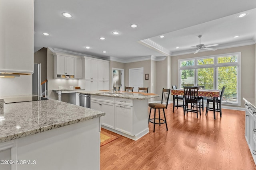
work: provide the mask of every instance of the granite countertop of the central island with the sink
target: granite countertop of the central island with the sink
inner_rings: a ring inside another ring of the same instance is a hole
[[[146,100],[150,98],[159,97],[158,94],[147,95],[147,94],[138,93],[138,92],[110,93],[108,90],[98,90],[98,91],[80,90],[77,92],[80,94],[90,94],[90,95],[96,95],[96,96],[108,96],[108,97],[114,97],[114,98],[125,98],[125,99],[135,99],[135,100]]]

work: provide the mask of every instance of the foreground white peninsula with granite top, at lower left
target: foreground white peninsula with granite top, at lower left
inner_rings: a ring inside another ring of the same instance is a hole
[[[41,100],[4,104],[0,169],[100,169],[102,111]],[[11,161],[10,161],[11,160]]]

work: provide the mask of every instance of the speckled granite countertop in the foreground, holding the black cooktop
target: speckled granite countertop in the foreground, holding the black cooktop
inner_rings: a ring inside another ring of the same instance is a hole
[[[52,99],[4,104],[4,111],[0,112],[0,143],[104,115]]]

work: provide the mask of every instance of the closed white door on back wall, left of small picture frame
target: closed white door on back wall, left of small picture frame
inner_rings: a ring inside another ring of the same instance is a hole
[[[139,87],[143,87],[143,68],[129,69],[129,86],[134,87],[134,92],[138,92]]]

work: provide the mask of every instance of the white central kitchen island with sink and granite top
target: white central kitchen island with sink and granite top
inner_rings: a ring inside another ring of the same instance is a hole
[[[138,140],[148,129],[148,99],[159,97],[157,94],[102,91],[78,91],[91,95],[91,108],[104,111],[101,127],[133,140]]]

